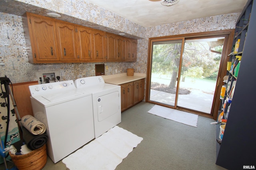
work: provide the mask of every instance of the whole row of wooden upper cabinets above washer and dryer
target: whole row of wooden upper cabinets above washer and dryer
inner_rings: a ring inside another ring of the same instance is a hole
[[[137,40],[26,12],[30,63],[136,61]]]

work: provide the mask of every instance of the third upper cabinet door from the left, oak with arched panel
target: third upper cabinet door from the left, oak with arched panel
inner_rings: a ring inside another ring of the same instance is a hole
[[[80,61],[93,61],[93,35],[90,29],[85,27],[77,28],[77,39],[78,39],[78,47],[79,47],[79,60]]]

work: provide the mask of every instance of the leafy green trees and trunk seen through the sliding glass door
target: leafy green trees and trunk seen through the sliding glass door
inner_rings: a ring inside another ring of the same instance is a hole
[[[152,73],[170,75],[170,88],[176,86],[181,49],[182,41],[166,41],[153,46]],[[182,80],[184,81],[186,76],[204,78],[216,73],[221,51],[222,45],[212,49],[205,41],[185,43],[182,55]]]

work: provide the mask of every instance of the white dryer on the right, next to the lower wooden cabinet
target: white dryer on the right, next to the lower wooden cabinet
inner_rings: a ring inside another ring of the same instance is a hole
[[[94,135],[99,137],[121,123],[121,87],[105,83],[102,76],[79,78],[76,88],[92,93]]]

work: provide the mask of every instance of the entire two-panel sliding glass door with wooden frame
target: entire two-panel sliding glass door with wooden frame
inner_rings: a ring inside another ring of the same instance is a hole
[[[148,102],[210,115],[224,41],[223,35],[153,40]]]

